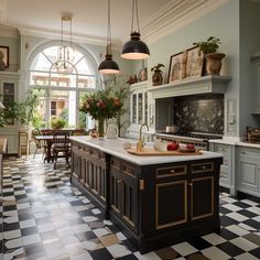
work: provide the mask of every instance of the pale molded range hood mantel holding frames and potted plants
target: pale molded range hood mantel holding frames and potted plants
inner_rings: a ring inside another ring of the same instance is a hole
[[[148,88],[148,91],[150,91],[155,99],[210,93],[224,94],[226,85],[230,79],[231,78],[228,76],[209,75],[152,86]]]

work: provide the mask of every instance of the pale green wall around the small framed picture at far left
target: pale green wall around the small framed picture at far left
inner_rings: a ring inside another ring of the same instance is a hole
[[[19,69],[19,39],[0,35],[0,45],[9,47],[9,67],[4,71],[17,72]]]

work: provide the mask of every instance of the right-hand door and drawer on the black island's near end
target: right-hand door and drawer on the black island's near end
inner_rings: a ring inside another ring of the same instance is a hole
[[[215,191],[214,171],[214,161],[193,163],[191,165],[191,180],[188,181],[191,220],[216,215],[215,197],[218,196],[218,191]]]

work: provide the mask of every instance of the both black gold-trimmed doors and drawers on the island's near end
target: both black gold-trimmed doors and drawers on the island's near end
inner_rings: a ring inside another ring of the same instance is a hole
[[[214,161],[156,167],[154,230],[218,216]],[[217,180],[217,181],[216,181]]]

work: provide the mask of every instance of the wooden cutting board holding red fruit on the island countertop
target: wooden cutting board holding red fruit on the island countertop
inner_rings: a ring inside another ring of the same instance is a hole
[[[139,156],[161,156],[161,155],[201,155],[203,154],[199,150],[191,150],[191,151],[165,151],[160,152],[154,150],[153,148],[143,148],[141,152],[138,152],[136,148],[126,149],[127,152],[139,155]]]

